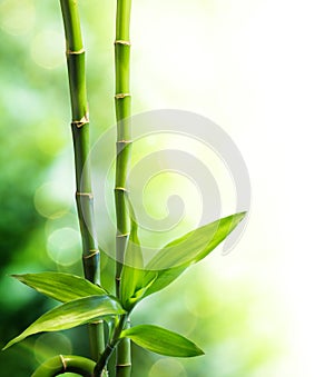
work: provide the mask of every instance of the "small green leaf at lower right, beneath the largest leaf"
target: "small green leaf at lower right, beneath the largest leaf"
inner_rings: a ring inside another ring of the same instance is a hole
[[[165,356],[194,357],[204,355],[204,351],[193,341],[158,326],[135,326],[124,330],[121,337],[130,338],[138,346]]]

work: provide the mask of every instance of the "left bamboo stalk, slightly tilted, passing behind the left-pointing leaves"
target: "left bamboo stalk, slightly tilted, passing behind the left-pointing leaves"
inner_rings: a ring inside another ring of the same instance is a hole
[[[100,284],[100,254],[94,224],[94,197],[89,165],[89,115],[86,92],[85,50],[78,1],[60,0],[68,66],[72,138],[76,163],[76,202],[82,240],[82,264],[86,279]],[[97,360],[105,349],[102,321],[89,324],[91,357]]]

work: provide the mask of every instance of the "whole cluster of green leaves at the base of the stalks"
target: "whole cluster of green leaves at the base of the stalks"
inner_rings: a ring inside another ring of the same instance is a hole
[[[168,242],[144,266],[138,225],[132,212],[119,299],[102,287],[70,274],[13,275],[19,281],[62,304],[39,317],[3,349],[33,334],[65,330],[101,319],[112,324],[128,317],[140,300],[166,288],[188,267],[213,251],[244,217],[245,212],[240,212],[197,228]],[[153,325],[120,329],[116,341],[122,338],[130,338],[138,346],[165,356],[194,357],[204,354],[184,336]]]

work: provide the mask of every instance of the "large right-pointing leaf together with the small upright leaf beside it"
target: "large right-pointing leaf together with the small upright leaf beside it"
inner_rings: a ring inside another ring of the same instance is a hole
[[[132,267],[135,256],[129,256],[121,276],[121,301],[131,309],[140,299],[166,288],[177,279],[189,266],[204,259],[219,245],[243,220],[245,212],[232,215],[195,229],[183,237],[167,244],[148,262],[145,269]],[[132,221],[134,222],[134,221]],[[128,254],[140,254],[137,237],[137,225],[132,226],[132,238]],[[130,259],[131,258],[131,259]]]

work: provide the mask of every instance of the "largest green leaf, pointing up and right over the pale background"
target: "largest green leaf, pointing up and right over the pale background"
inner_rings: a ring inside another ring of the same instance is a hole
[[[167,287],[190,265],[204,259],[213,251],[243,220],[246,212],[240,212],[216,220],[193,230],[167,244],[147,265],[143,285],[147,286],[144,297]]]

